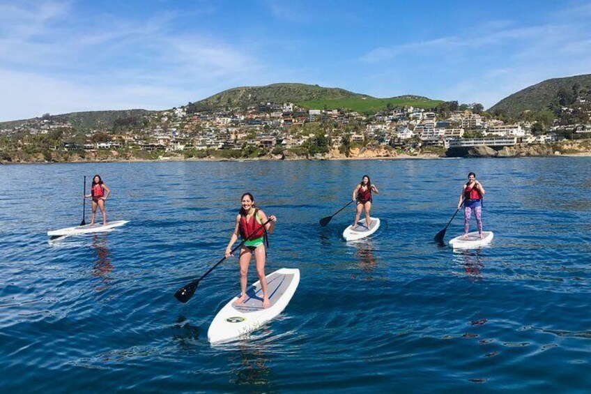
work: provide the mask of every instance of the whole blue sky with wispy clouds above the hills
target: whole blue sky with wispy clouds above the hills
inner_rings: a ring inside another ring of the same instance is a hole
[[[0,121],[302,82],[490,107],[591,73],[590,1],[0,0]]]

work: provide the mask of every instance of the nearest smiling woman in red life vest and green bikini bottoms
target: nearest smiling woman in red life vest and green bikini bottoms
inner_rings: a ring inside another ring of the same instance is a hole
[[[270,222],[266,223],[267,220],[270,220]],[[273,232],[275,229],[275,222],[277,222],[277,218],[274,215],[269,215],[267,219],[267,215],[256,208],[252,194],[243,194],[242,208],[236,216],[236,227],[234,227],[234,232],[226,247],[226,257],[230,257],[232,245],[236,243],[238,236],[247,240],[242,248],[240,248],[240,298],[236,300],[236,305],[243,303],[246,298],[248,266],[253,253],[254,262],[256,263],[256,274],[259,275],[261,289],[263,289],[263,308],[269,308],[271,305],[267,290],[267,278],[265,277],[265,238],[267,232]],[[266,225],[263,226],[263,223],[266,223]]]

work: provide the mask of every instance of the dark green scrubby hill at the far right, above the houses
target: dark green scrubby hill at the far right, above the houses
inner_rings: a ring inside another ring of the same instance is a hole
[[[501,110],[509,116],[517,116],[526,109],[535,112],[551,110],[558,103],[557,96],[560,89],[572,91],[575,84],[578,84],[583,89],[591,89],[591,74],[546,79],[544,82],[529,86],[503,98],[489,108],[489,112]]]

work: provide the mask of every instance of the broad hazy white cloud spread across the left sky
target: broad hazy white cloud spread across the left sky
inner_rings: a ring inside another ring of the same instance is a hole
[[[0,120],[88,109],[163,109],[265,66],[243,43],[175,31],[177,15],[74,20],[68,3],[0,6]],[[21,24],[26,25],[20,28]]]

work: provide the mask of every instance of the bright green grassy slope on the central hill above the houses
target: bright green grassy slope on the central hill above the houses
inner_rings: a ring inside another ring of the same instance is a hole
[[[347,108],[356,112],[377,112],[390,107],[412,107],[430,109],[437,107],[442,100],[429,100],[420,96],[400,96],[392,98],[344,98],[341,100],[307,100],[299,101],[297,104],[308,109],[337,109]]]

